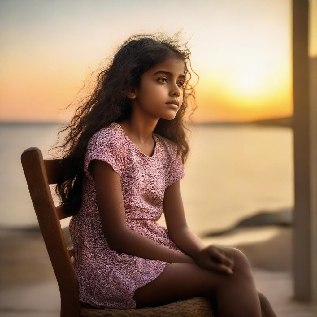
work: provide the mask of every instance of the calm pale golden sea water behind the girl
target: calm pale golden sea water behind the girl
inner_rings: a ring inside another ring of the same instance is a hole
[[[44,159],[52,159],[47,151],[57,141],[59,127],[60,124],[0,124],[0,227],[37,224],[20,157],[23,150],[36,146]],[[180,181],[190,228],[201,234],[226,229],[259,211],[292,208],[292,157],[293,132],[287,127],[193,127],[185,177]],[[51,190],[54,192],[54,186]],[[54,201],[58,205],[57,197]],[[62,227],[69,220],[64,219]],[[158,223],[166,226],[164,215]],[[269,236],[268,232],[264,230],[262,238],[265,233]]]

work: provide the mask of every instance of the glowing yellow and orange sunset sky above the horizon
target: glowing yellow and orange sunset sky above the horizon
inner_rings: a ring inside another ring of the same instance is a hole
[[[196,121],[292,115],[289,0],[1,1],[0,12],[0,120],[69,120],[61,110],[121,42],[182,28]]]

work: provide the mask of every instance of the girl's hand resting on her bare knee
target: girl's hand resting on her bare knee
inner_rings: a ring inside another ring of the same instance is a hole
[[[197,252],[194,259],[201,268],[233,274],[234,257],[230,248],[210,244]]]

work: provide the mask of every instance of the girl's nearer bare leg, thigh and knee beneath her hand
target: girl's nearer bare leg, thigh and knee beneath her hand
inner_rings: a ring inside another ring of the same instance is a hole
[[[235,256],[232,275],[196,264],[171,263],[155,280],[135,291],[133,299],[137,308],[164,305],[195,296],[214,296],[221,317],[262,317],[250,263],[240,250],[232,249]]]

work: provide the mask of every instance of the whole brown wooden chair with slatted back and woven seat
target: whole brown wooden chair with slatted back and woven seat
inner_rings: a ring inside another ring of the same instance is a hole
[[[211,301],[193,297],[159,307],[114,309],[91,308],[79,301],[78,283],[72,256],[61,229],[60,220],[69,217],[62,206],[55,207],[49,184],[59,179],[58,163],[61,159],[43,160],[37,147],[21,154],[21,163],[42,236],[52,263],[61,295],[61,317],[88,316],[214,316]]]

